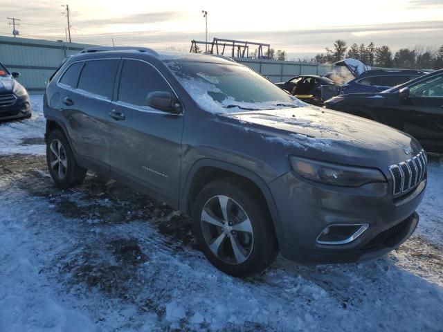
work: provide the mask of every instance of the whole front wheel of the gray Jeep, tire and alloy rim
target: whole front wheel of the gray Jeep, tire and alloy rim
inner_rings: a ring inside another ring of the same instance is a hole
[[[206,185],[192,208],[201,251],[213,266],[234,277],[260,273],[278,255],[266,202],[254,193],[251,185],[225,178]]]

